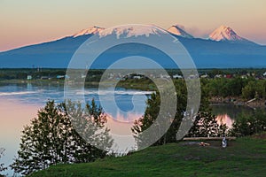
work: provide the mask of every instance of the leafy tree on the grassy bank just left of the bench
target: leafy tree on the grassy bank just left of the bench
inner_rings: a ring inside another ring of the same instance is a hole
[[[176,95],[177,106],[176,116],[171,119],[172,124],[168,128],[166,134],[164,134],[157,142],[153,145],[161,145],[168,142],[176,142],[176,133],[180,127],[181,121],[184,119],[187,103],[187,91],[184,81],[176,81]],[[196,90],[196,89],[195,89]],[[215,116],[212,114],[209,108],[208,93],[207,93],[207,80],[201,81],[201,100],[200,100],[200,111],[198,112],[195,121],[192,124],[192,128],[186,136],[222,136],[227,132],[225,125],[218,125]],[[171,104],[171,103],[169,103]],[[137,144],[141,144],[144,140],[141,133],[144,132],[148,127],[154,124],[160,111],[160,94],[153,94],[147,100],[147,107],[145,115],[134,122],[134,126],[131,128]],[[158,128],[160,126],[158,125]]]

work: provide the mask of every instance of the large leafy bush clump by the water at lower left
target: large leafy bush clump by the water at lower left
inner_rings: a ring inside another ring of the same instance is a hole
[[[74,115],[75,112],[79,116],[76,121],[82,124],[83,131],[90,128],[89,125],[100,125],[103,129],[101,133],[90,131],[88,135],[97,134],[107,140],[106,146],[111,146],[109,130],[103,127],[106,115],[101,108],[98,108],[94,100],[91,105],[86,105],[88,109],[82,109],[82,104],[71,101],[68,101],[67,105],[69,110],[66,112],[66,104],[48,101],[45,107],[38,111],[37,118],[24,127],[18,157],[11,165],[16,173],[27,175],[50,165],[90,162],[106,155],[105,150],[94,147],[76,132],[69,115]]]

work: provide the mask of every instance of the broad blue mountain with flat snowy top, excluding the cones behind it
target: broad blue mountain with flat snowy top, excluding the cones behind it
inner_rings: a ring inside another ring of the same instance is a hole
[[[163,35],[153,31],[153,27],[155,26],[152,26],[150,28],[151,31],[148,33],[142,30],[134,31],[134,29],[128,28],[126,31],[123,31],[123,33],[125,33],[122,35],[129,35],[129,37],[152,37],[149,34]],[[120,32],[119,30],[113,31],[111,34],[121,35]],[[81,35],[81,33],[83,33],[83,35]],[[83,30],[81,33],[75,36],[69,35],[56,41],[43,42],[0,52],[0,68],[32,67],[32,65],[40,67],[67,67],[75,50],[92,35],[98,35],[100,30]],[[169,32],[165,30],[163,33]],[[106,34],[110,35],[110,32]],[[184,37],[172,33],[171,35],[176,37],[179,42],[182,42],[185,49],[188,50],[192,56],[197,67],[266,67],[266,46],[250,42],[231,42],[228,40],[214,41],[210,39]],[[105,36],[103,35],[102,37]],[[116,49],[114,53],[118,55],[120,51],[132,53],[132,51],[136,49],[139,50],[139,47],[137,48],[135,45],[131,45],[130,48],[130,50],[127,48]],[[151,56],[146,57],[155,58],[157,61],[163,60],[161,55],[153,53],[154,50],[145,49],[148,51],[140,51],[151,53]],[[141,55],[140,52],[138,54]],[[112,53],[112,55],[114,54]],[[105,57],[105,59],[108,59],[108,56]],[[162,64],[166,68],[173,67],[172,63],[168,61],[162,62]],[[99,68],[101,66],[98,65],[97,67]]]

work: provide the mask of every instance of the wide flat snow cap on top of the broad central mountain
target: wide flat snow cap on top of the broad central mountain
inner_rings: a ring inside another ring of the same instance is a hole
[[[105,30],[102,30],[98,33],[100,37],[105,37],[106,35],[116,35],[117,38],[120,38],[120,36],[124,37],[132,37],[132,36],[141,36],[145,35],[146,37],[149,37],[149,35],[160,35],[160,34],[166,34],[164,30],[159,30],[158,27],[155,26],[149,26],[149,25],[126,25],[121,27],[112,27]]]

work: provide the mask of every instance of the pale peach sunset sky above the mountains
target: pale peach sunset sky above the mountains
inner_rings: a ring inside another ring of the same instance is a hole
[[[265,0],[0,0],[0,51],[125,24],[179,24],[196,37],[226,25],[266,45],[265,7]]]

